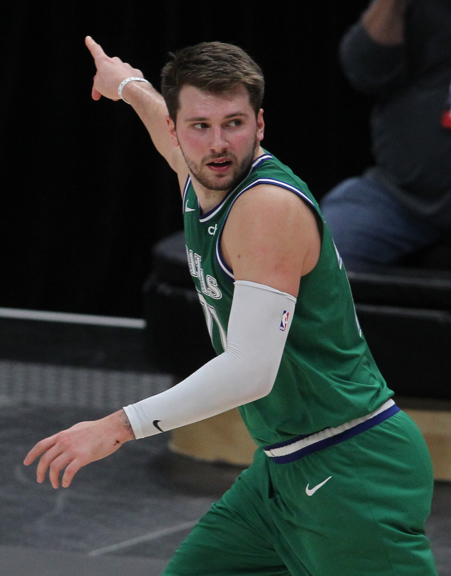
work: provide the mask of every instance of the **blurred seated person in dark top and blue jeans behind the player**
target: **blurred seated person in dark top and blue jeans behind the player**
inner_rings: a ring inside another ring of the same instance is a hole
[[[348,269],[397,263],[451,231],[451,2],[374,0],[341,41],[355,89],[377,98],[375,165],[321,208]]]

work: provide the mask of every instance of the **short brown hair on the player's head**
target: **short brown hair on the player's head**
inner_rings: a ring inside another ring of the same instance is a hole
[[[161,93],[174,123],[180,107],[179,94],[189,85],[205,92],[230,92],[245,86],[249,103],[257,116],[261,108],[265,80],[260,66],[234,44],[201,42],[172,54],[161,70]]]

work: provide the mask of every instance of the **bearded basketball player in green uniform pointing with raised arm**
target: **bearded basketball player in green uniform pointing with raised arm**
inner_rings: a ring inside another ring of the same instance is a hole
[[[436,575],[433,473],[356,319],[307,186],[269,152],[260,68],[240,48],[172,56],[163,97],[90,37],[92,97],[131,104],[178,175],[191,275],[217,357],[180,384],[36,444],[37,480],[69,486],[133,438],[239,407],[259,446],[166,575]],[[287,116],[287,121],[288,121]],[[175,327],[176,329],[176,327]]]

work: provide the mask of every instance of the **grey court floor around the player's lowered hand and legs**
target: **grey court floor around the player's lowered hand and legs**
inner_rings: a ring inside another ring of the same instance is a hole
[[[142,337],[0,319],[0,574],[157,576],[215,499],[164,482],[166,434],[127,443],[67,489],[22,465],[37,440],[171,384]],[[435,485],[427,533],[439,576],[451,576],[451,483]]]

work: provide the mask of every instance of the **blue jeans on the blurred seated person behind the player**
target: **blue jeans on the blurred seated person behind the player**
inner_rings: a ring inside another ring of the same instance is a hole
[[[321,210],[348,270],[396,263],[441,238],[371,176],[344,180],[322,198]]]

